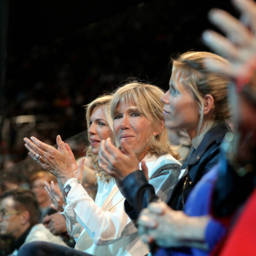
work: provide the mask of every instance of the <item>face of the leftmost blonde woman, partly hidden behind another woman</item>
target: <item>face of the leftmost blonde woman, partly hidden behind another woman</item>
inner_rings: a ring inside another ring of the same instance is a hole
[[[104,105],[99,105],[94,108],[90,116],[90,145],[92,154],[98,154],[100,143],[103,139],[108,139],[111,134],[111,129],[106,120]]]

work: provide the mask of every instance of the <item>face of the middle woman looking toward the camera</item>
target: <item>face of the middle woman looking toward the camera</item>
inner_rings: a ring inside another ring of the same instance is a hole
[[[153,122],[129,101],[117,106],[113,129],[119,143],[125,140],[139,161],[147,154],[148,140],[152,135],[157,135]]]

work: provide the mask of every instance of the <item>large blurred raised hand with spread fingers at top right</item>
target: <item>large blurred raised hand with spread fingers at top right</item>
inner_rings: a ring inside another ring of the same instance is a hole
[[[205,63],[213,72],[233,79],[246,79],[252,73],[251,67],[256,67],[256,3],[252,0],[233,0],[233,4],[241,11],[241,20],[220,9],[209,12],[211,23],[222,30],[226,37],[212,30],[203,33],[204,43],[230,60],[230,64],[211,60]]]

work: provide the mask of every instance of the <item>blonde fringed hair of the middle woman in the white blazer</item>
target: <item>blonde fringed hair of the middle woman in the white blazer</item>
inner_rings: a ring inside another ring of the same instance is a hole
[[[139,81],[132,81],[115,90],[113,99],[110,103],[110,114],[112,119],[118,105],[126,102],[138,107],[153,125],[159,123],[159,120],[164,120],[163,107],[164,103],[161,101],[164,92],[157,86],[142,83]],[[118,142],[116,141],[117,145]],[[164,127],[162,132],[157,136],[151,136],[148,140],[147,146],[149,147],[148,153],[155,155],[172,154],[174,158],[180,159],[178,152],[174,151],[174,147],[169,142],[167,128]]]

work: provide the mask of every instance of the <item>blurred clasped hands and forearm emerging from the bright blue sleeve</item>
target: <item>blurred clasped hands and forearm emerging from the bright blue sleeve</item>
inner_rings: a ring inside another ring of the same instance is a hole
[[[150,203],[141,211],[138,230],[146,243],[156,242],[162,247],[189,246],[204,248],[204,232],[209,217],[190,217],[183,211],[174,211],[166,203]]]

